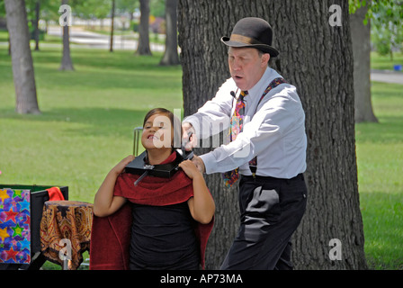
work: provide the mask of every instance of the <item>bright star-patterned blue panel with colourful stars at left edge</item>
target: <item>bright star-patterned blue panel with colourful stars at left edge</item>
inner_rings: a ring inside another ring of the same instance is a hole
[[[30,262],[30,190],[0,189],[0,264]]]

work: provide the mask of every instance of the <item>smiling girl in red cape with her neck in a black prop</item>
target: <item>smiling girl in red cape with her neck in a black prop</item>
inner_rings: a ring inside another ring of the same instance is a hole
[[[179,120],[174,121],[174,117],[172,112],[163,108],[153,109],[146,115],[141,143],[146,148],[149,165],[175,161],[174,136],[177,132],[179,137],[182,136],[182,127]],[[174,123],[178,123],[177,127]],[[131,204],[129,265],[122,268],[191,270],[198,269],[200,264],[203,266],[204,248],[215,211],[203,175],[192,161],[185,160],[170,179],[146,176],[134,185],[139,175],[124,173],[124,167],[133,159],[134,156],[125,157],[114,166],[95,194],[90,269],[108,268],[96,262],[107,262],[109,258],[100,257],[101,252],[94,250],[103,249],[103,254],[108,252],[112,248],[111,239],[125,233],[122,232],[121,222],[126,221],[127,216],[116,214],[128,202]],[[100,218],[106,216],[114,216],[114,221],[118,223],[113,224],[113,218],[109,220],[111,229],[108,232],[113,230],[114,236],[107,242],[105,229],[100,229],[98,225]],[[107,247],[101,248],[101,242]],[[121,245],[124,241],[118,239],[117,242]],[[122,249],[125,254],[125,248]],[[110,266],[113,267],[116,268]]]

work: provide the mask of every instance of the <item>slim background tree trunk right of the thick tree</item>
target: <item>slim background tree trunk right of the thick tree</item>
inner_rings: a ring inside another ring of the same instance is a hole
[[[377,122],[371,102],[371,20],[364,25],[368,4],[351,15],[354,53],[355,122]]]

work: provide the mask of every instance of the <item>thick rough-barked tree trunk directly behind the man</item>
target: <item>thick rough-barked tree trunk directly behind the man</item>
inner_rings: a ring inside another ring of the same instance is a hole
[[[342,26],[329,24],[332,4],[341,8]],[[348,1],[179,0],[178,15],[185,115],[196,112],[229,77],[227,48],[219,38],[229,36],[235,23],[246,16],[272,24],[273,47],[281,56],[273,58],[271,66],[297,87],[306,112],[309,202],[292,241],[294,267],[366,268]],[[208,175],[207,184],[217,213],[206,261],[208,268],[216,269],[237,232],[237,189],[224,188],[219,175]],[[332,239],[340,240],[341,260],[332,260]]]

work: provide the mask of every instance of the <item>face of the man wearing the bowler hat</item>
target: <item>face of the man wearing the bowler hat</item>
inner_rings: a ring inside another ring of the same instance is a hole
[[[249,90],[263,76],[270,59],[270,54],[259,55],[254,48],[228,49],[229,72],[237,87],[241,90]]]

